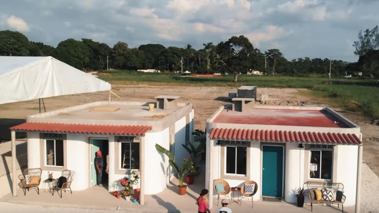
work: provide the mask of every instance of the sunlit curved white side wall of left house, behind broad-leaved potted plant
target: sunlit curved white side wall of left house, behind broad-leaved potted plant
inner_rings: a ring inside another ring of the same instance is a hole
[[[185,124],[186,118],[184,118]],[[145,195],[162,192],[172,178],[170,177],[169,160],[164,154],[156,150],[155,143],[170,149],[169,128],[160,132],[145,134]]]

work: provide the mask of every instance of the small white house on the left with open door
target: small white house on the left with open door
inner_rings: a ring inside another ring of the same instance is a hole
[[[168,160],[155,143],[174,152],[181,164],[188,154],[181,144],[191,140],[193,109],[179,96],[160,95],[156,102],[95,102],[28,116],[12,131],[27,132],[28,167],[42,168],[42,180],[64,169],[75,171],[72,190],[96,185],[95,153],[104,159],[103,183],[135,170],[143,195],[162,192],[170,179]],[[153,108],[153,106],[155,106]],[[46,177],[46,178],[45,178]],[[41,181],[41,188],[44,187]]]

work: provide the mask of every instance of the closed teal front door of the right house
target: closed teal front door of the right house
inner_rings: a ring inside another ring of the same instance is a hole
[[[262,145],[262,196],[283,195],[283,149]]]

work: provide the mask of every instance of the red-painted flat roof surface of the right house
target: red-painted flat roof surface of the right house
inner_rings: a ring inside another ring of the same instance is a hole
[[[246,112],[223,109],[212,123],[350,128],[326,109],[254,108]]]

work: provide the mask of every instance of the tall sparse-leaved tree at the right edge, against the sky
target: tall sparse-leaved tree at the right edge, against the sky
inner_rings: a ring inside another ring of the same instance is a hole
[[[362,56],[371,50],[379,48],[379,28],[378,25],[373,29],[366,29],[362,35],[362,30],[358,33],[358,41],[354,41],[354,54]]]

